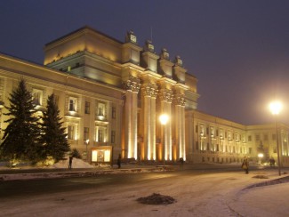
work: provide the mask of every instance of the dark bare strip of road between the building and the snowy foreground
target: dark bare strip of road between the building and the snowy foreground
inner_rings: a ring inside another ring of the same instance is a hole
[[[54,173],[66,173],[68,170],[54,170]],[[87,170],[86,170],[87,171]],[[92,170],[88,170],[92,172]],[[29,195],[45,195],[56,192],[69,192],[75,190],[109,188],[111,185],[132,185],[140,181],[165,179],[168,175],[177,179],[179,176],[197,175],[202,173],[221,173],[224,171],[239,171],[236,167],[219,168],[203,166],[192,169],[192,167],[177,167],[173,172],[159,173],[116,173],[116,174],[97,174],[93,177],[72,177],[62,179],[36,179],[20,181],[4,181],[0,185],[0,198],[27,197]],[[34,173],[34,170],[22,171],[22,173]],[[39,172],[39,171],[37,171]],[[52,173],[52,171],[46,171]],[[83,173],[84,170],[74,170],[73,173]],[[15,171],[14,171],[15,173]],[[20,173],[20,171],[18,171]],[[87,183],[90,183],[89,185]]]

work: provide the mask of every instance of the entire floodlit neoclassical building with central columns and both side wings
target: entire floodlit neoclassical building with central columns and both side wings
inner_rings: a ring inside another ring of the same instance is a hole
[[[263,151],[276,158],[276,140],[269,139],[274,133],[288,163],[286,125],[276,134],[275,125],[240,125],[198,111],[197,77],[183,67],[181,57],[172,61],[166,49],[157,53],[150,41],[140,46],[132,31],[120,42],[79,28],[45,44],[44,65],[0,54],[2,105],[9,104],[21,77],[39,112],[50,94],[57,96],[71,148],[91,163],[108,162],[118,154],[142,161],[182,157],[229,163],[245,156],[258,160]],[[159,121],[162,114],[169,117],[165,125]],[[5,118],[1,116],[2,129]],[[266,141],[261,139],[265,135]]]

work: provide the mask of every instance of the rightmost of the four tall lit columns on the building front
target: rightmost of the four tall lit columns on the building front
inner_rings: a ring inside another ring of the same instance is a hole
[[[179,148],[178,156],[186,160],[185,149],[185,96],[182,93],[174,95],[175,108],[175,140]]]

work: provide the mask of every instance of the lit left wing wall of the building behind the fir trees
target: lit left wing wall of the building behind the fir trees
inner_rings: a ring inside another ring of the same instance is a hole
[[[40,102],[36,109],[44,109],[46,100],[52,93],[58,99],[60,116],[63,118],[64,126],[71,133],[68,142],[72,149],[78,149],[86,158],[86,143],[88,139],[88,151],[94,146],[110,145],[118,152],[121,149],[121,126],[123,113],[122,89],[105,84],[95,83],[72,74],[56,71],[52,68],[39,66],[25,60],[19,60],[4,54],[0,55],[0,88],[1,99],[4,106],[9,107],[9,96],[17,88],[21,78],[24,78],[28,90],[40,92]],[[70,108],[70,100],[74,100],[74,108]],[[89,114],[85,114],[85,102],[89,102]],[[103,110],[99,114],[99,107]],[[114,111],[113,111],[114,110]],[[2,114],[7,112],[4,108]],[[112,113],[115,113],[113,116]],[[1,128],[5,129],[4,123],[8,117],[1,116]],[[89,128],[88,138],[84,138],[84,127]],[[103,130],[102,140],[97,140],[98,130]],[[114,132],[114,141],[111,134]],[[1,133],[3,136],[3,131]],[[88,155],[90,160],[91,155]]]

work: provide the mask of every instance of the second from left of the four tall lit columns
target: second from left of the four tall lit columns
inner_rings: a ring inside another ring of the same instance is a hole
[[[144,156],[148,160],[155,160],[157,84],[143,84],[141,92],[143,97]]]

